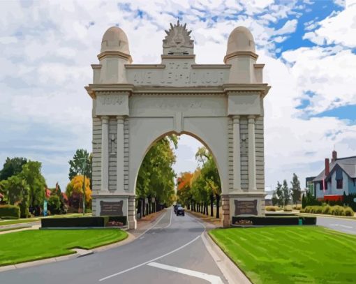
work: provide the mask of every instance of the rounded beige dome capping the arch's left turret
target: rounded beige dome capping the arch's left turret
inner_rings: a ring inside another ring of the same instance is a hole
[[[101,40],[101,52],[107,51],[130,54],[126,33],[119,27],[111,27],[105,31]]]

